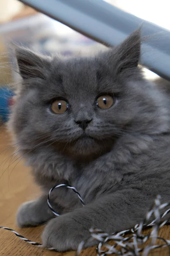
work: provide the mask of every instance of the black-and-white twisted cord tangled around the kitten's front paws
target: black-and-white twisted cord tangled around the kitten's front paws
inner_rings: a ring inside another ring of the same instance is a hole
[[[50,189],[48,193],[48,207],[51,209],[54,215],[59,216],[59,214],[55,212],[54,209],[51,207],[50,194],[54,189],[57,189],[61,186],[72,189],[79,197],[82,205],[85,205],[79,192],[77,192],[77,190],[73,186],[67,184],[60,184],[54,186],[52,189]],[[142,256],[147,256],[151,249],[170,246],[170,240],[158,236],[159,229],[165,224],[169,223],[170,218],[167,218],[164,221],[162,219],[170,212],[170,208],[167,209],[163,214],[161,214],[160,212],[162,209],[168,206],[170,206],[170,203],[161,204],[161,197],[158,195],[154,201],[153,206],[150,208],[149,212],[147,212],[144,220],[140,224],[136,224],[133,229],[115,232],[110,235],[106,232],[103,232],[102,230],[91,228],[89,230],[89,232],[91,233],[91,238],[87,241],[82,241],[79,244],[77,249],[77,255],[79,255],[84,245],[92,239],[95,239],[99,242],[98,246],[96,247],[97,256],[107,256],[111,254],[122,256],[139,256],[141,255],[141,253]],[[151,218],[153,218],[153,221],[149,223]],[[152,228],[152,231],[147,235],[144,235],[142,233],[142,230],[146,228]],[[17,237],[28,242],[29,244],[43,247],[42,244],[28,240],[24,236],[21,236],[19,233],[8,227],[0,227],[0,229],[5,229],[13,232]],[[130,236],[125,237],[125,235],[127,234],[130,234]],[[157,240],[163,241],[164,244],[156,245]],[[110,245],[108,243],[109,241],[114,241],[114,245]],[[149,243],[141,248],[141,245],[144,245],[147,241],[149,241]],[[103,248],[105,248],[105,250]],[[55,250],[55,248],[53,247],[48,249]]]

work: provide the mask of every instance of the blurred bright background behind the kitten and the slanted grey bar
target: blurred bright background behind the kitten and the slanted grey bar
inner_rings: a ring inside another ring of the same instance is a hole
[[[106,0],[108,3],[144,20],[170,29],[170,1]],[[16,62],[10,55],[11,43],[43,54],[95,54],[105,49],[69,27],[25,6],[18,0],[0,0],[0,122],[6,122],[12,105],[8,84],[17,80]],[[145,69],[146,76],[156,75]]]

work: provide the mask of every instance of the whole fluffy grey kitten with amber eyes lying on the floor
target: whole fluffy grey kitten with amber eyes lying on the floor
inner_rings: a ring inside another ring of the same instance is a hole
[[[89,228],[139,223],[160,194],[170,201],[168,97],[138,67],[140,32],[95,57],[44,57],[17,49],[23,78],[9,127],[42,196],[23,204],[20,227],[48,221],[42,243],[75,250]],[[85,201],[67,188],[69,183]],[[55,218],[54,218],[55,217]],[[95,244],[88,243],[87,246]]]

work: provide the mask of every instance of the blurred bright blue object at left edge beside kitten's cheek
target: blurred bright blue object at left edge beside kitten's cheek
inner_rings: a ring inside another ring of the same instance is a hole
[[[9,87],[0,87],[0,119],[2,119],[3,122],[8,121],[12,96],[14,96],[14,93]]]

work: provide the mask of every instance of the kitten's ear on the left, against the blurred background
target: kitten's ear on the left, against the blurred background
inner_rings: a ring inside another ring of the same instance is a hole
[[[45,78],[45,67],[47,68],[50,63],[48,58],[23,47],[18,47],[15,50],[15,55],[23,79]]]

